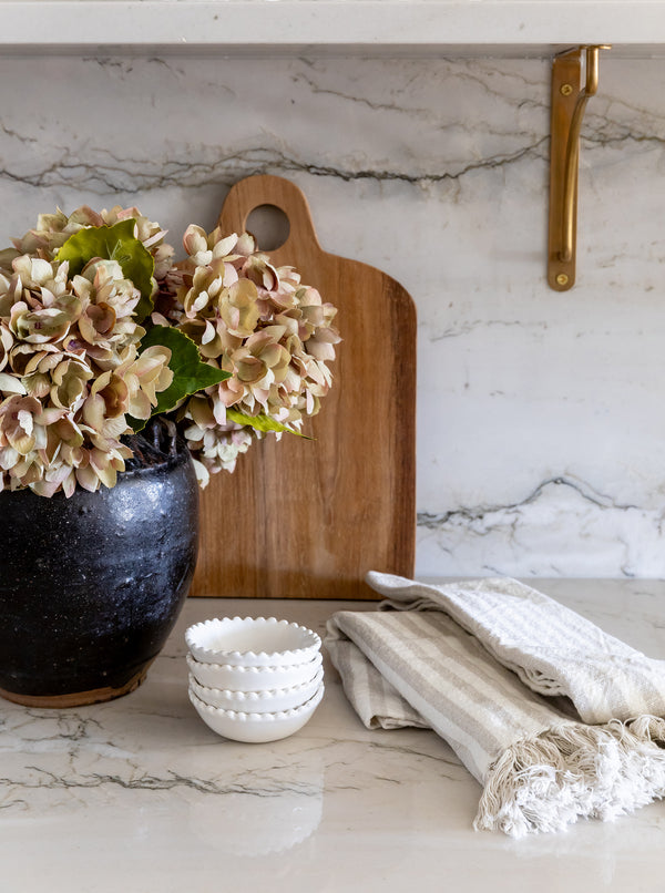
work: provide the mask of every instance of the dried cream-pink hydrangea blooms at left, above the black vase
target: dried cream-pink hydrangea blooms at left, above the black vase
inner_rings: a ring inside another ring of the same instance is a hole
[[[70,277],[57,259],[80,229],[129,218],[166,271],[164,230],[135,208],[41,215],[0,253],[0,489],[70,496],[76,485],[113,486],[131,455],[121,440],[129,418],[147,419],[173,379],[168,348],[139,353],[141,292],[121,265],[92,258]]]

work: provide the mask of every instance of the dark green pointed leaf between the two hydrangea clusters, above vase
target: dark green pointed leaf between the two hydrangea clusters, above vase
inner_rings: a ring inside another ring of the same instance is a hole
[[[231,372],[224,372],[204,362],[194,341],[180,329],[153,326],[141,341],[141,352],[155,345],[171,350],[168,368],[173,372],[173,381],[165,391],[157,393],[157,406],[153,409],[152,415],[171,412],[185,397],[231,378]],[[127,418],[127,423],[136,432],[145,425],[145,420]]]

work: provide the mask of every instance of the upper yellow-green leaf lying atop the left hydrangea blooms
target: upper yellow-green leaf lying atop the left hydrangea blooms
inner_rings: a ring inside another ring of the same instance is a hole
[[[153,256],[134,236],[134,219],[120,220],[113,226],[88,226],[70,236],[58,252],[55,259],[69,260],[70,276],[81,273],[94,257],[116,260],[125,279],[131,279],[141,291],[141,300],[134,311],[141,322],[153,309]]]

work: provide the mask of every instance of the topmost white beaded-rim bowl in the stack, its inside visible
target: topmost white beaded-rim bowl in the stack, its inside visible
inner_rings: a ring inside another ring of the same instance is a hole
[[[203,664],[235,667],[306,664],[321,647],[311,629],[276,617],[216,617],[191,626],[185,640]]]

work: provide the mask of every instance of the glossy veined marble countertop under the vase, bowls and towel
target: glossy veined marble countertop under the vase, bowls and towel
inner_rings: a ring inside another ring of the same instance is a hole
[[[529,581],[653,657],[665,582]],[[7,893],[646,891],[665,869],[665,803],[511,840],[474,832],[480,788],[426,730],[368,731],[327,661],[297,735],[224,740],[187,699],[184,629],[275,615],[324,632],[372,603],[190,599],[144,685],[105,705],[0,702],[0,889]],[[654,886],[655,884],[655,886]]]

